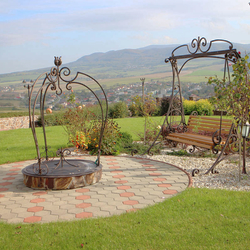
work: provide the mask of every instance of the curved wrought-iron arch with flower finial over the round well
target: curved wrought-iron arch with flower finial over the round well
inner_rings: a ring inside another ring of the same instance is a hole
[[[101,129],[100,129],[100,136],[99,136],[99,143],[98,143],[98,155],[95,161],[96,166],[100,165],[101,144],[102,144],[102,138],[103,138],[107,116],[108,116],[107,96],[106,96],[104,89],[102,88],[102,86],[96,79],[82,72],[77,72],[75,76],[71,77],[71,71],[68,67],[60,68],[62,64],[61,57],[55,57],[54,64],[55,66],[51,68],[49,73],[45,72],[41,74],[34,82],[32,82],[33,83],[32,85],[27,86],[28,91],[29,91],[30,127],[31,127],[31,131],[34,137],[37,160],[38,160],[37,164],[34,165],[34,173],[38,175],[39,174],[46,175],[48,174],[48,171],[49,171],[48,166],[46,164],[46,161],[49,160],[49,153],[48,153],[48,144],[47,144],[47,137],[46,137],[45,122],[44,122],[45,100],[46,100],[46,95],[49,89],[55,92],[57,96],[60,96],[63,93],[63,90],[62,90],[63,83],[65,84],[65,88],[68,91],[73,89],[73,85],[80,85],[82,87],[87,88],[95,96],[98,102],[98,105],[100,107],[100,110],[101,110]],[[101,93],[104,96],[104,103],[101,102],[101,99],[98,97],[98,95],[94,92],[93,89],[91,89],[86,84],[80,82],[80,79],[78,79],[80,76],[87,77],[89,80],[94,82],[94,84],[96,84],[100,88]],[[71,79],[66,79],[67,77],[71,77]],[[40,81],[42,81],[42,84],[39,87],[38,91],[35,92],[35,87],[36,85],[38,85]],[[41,123],[42,123],[42,129],[43,129],[43,137],[44,137],[45,160],[43,160],[43,157],[41,156],[41,150],[38,144],[38,138],[37,138],[37,133],[36,133],[36,119],[35,119],[36,104],[39,104],[40,106]],[[69,155],[69,154],[70,154],[69,149],[59,149],[57,151],[57,155],[60,156],[58,166],[59,165],[63,166],[63,161],[66,161],[69,165],[72,165],[64,157],[65,155]],[[78,167],[74,165],[72,166]]]

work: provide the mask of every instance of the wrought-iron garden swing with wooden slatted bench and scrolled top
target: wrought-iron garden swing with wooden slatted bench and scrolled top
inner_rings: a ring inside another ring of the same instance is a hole
[[[215,49],[216,44],[219,45],[217,50]],[[218,50],[218,48],[223,47],[224,49]],[[188,62],[204,58],[222,59],[224,61],[224,79],[230,82],[229,63],[236,63],[240,54],[233,48],[233,44],[227,40],[215,39],[208,43],[204,37],[195,38],[191,45],[184,44],[172,51],[171,56],[165,59],[165,62],[170,62],[172,67],[171,100],[162,129],[145,153],[150,153],[161,134],[165,134],[167,141],[212,149],[215,153],[220,150],[216,161],[206,172],[208,174],[209,172],[213,173],[217,164],[227,157],[226,152],[228,149],[230,151],[231,146],[236,143],[237,135],[234,123],[227,119],[222,121],[221,118],[191,116],[188,123],[185,122],[180,74]],[[178,61],[180,67],[178,67]],[[179,121],[176,121],[176,117],[180,118]]]

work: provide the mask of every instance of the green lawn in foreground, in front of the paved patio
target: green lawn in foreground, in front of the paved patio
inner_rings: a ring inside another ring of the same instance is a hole
[[[190,188],[108,218],[0,223],[1,249],[249,249],[248,192]]]

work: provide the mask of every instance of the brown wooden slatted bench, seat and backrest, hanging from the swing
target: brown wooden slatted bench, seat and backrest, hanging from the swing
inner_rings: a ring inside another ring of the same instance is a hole
[[[196,147],[215,149],[215,146],[225,144],[232,126],[232,120],[207,116],[190,116],[186,132],[169,133],[167,140],[188,144]],[[219,133],[221,131],[221,133]],[[219,141],[217,136],[221,135]]]

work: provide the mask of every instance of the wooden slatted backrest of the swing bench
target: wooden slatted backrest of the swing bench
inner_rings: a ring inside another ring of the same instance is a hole
[[[208,117],[208,116],[189,116],[188,119],[188,130],[199,133],[201,131],[205,132],[215,132],[216,130],[220,129],[221,123],[221,133],[222,134],[229,134],[230,128],[232,126],[231,119],[222,119],[216,117]]]

